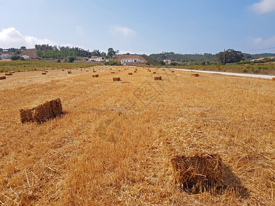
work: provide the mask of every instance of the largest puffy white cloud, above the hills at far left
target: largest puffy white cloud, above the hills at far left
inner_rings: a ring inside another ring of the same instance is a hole
[[[47,38],[39,39],[34,36],[25,36],[21,34],[14,27],[3,29],[0,32],[0,47],[1,48],[19,48],[25,46],[27,48],[34,48],[35,45],[49,44],[54,45],[52,41]]]

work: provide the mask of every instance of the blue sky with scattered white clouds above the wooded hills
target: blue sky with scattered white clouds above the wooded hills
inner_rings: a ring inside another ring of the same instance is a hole
[[[275,53],[275,0],[0,0],[0,14],[1,48]]]

